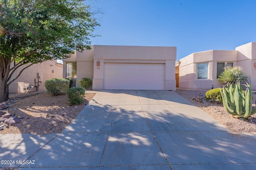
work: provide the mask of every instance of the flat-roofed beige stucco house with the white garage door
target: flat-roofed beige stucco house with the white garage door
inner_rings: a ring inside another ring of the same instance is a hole
[[[63,77],[92,79],[92,89],[176,90],[176,47],[92,45],[63,59]]]

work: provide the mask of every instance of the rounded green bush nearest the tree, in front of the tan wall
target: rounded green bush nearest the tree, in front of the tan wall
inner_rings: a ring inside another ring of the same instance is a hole
[[[45,81],[44,86],[48,93],[52,96],[57,96],[58,94],[65,94],[70,81],[65,78],[52,78]]]

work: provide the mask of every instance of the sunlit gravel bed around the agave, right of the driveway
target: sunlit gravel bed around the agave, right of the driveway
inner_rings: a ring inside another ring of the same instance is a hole
[[[235,117],[232,117],[227,113],[223,107],[223,104],[218,104],[217,102],[197,102],[193,100],[194,97],[200,97],[206,93],[206,91],[197,91],[197,90],[176,90],[176,93],[199,107],[214,119],[224,125],[226,128],[230,129],[232,132],[239,133],[251,133],[256,135],[256,114],[248,120],[241,120]],[[256,94],[253,94],[253,107],[255,107]]]

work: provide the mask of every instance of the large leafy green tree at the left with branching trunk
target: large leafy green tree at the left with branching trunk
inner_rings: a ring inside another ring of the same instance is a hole
[[[32,64],[90,49],[100,25],[85,0],[0,0],[0,102],[9,85]],[[11,80],[22,65],[18,76]]]

